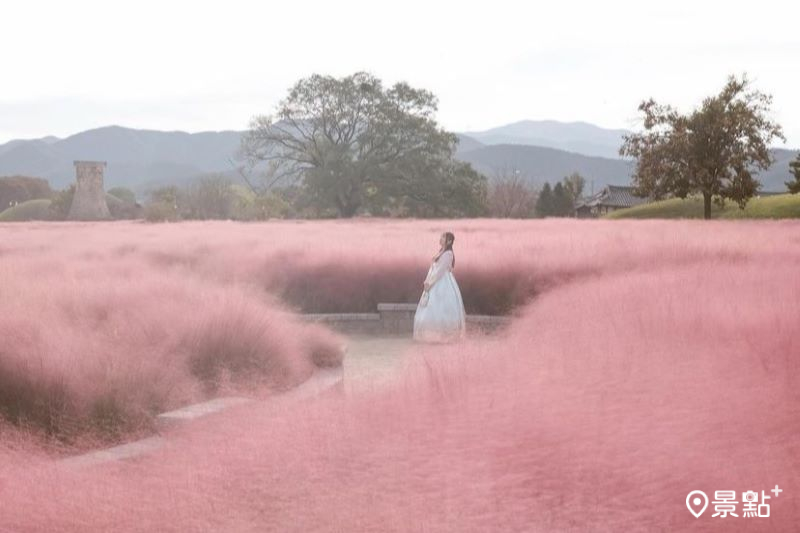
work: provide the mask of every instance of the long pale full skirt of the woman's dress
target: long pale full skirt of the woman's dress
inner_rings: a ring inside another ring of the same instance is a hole
[[[422,305],[423,298],[420,298],[414,315],[414,340],[452,342],[464,337],[464,302],[452,272],[442,276],[430,288],[427,305]]]

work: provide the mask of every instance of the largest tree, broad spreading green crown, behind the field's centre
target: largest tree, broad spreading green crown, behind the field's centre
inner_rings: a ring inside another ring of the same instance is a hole
[[[320,210],[471,214],[486,179],[453,159],[457,137],[434,120],[436,97],[406,83],[385,88],[359,72],[298,81],[273,116],[257,116],[242,142],[268,182],[302,184]],[[266,164],[266,165],[265,165]]]

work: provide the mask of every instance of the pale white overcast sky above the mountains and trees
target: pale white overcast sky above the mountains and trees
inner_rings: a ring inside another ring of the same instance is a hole
[[[0,143],[111,124],[240,130],[301,77],[367,70],[433,91],[455,131],[632,128],[644,98],[688,110],[747,72],[800,147],[798,3],[648,4],[9,1]]]

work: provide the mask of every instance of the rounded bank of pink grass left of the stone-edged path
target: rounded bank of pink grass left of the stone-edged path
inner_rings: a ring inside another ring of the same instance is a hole
[[[0,266],[6,420],[60,440],[116,439],[210,394],[287,388],[316,360],[336,363],[341,341],[274,299],[117,251],[61,250],[56,240],[9,252]]]

